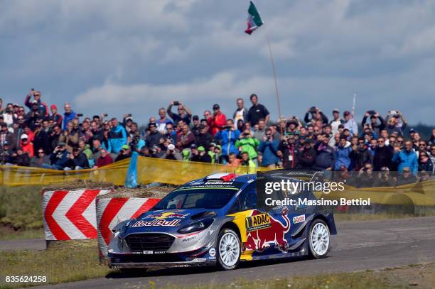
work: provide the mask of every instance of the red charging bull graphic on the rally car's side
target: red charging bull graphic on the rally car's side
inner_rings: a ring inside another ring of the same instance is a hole
[[[252,216],[259,214],[258,211],[252,212]],[[283,209],[281,216],[286,220],[283,225],[278,220],[269,216],[270,226],[264,229],[249,231],[247,234],[247,241],[244,245],[245,250],[263,251],[269,248],[271,244],[277,246],[281,251],[286,251],[287,240],[285,234],[290,230],[290,220],[287,217],[288,209]],[[245,251],[244,250],[244,251]]]

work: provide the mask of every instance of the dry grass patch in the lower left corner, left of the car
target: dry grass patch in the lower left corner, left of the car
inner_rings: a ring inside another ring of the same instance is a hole
[[[0,288],[19,288],[42,283],[5,283],[4,276],[46,276],[47,283],[67,283],[104,277],[110,272],[100,265],[97,249],[49,249],[44,251],[0,251]]]

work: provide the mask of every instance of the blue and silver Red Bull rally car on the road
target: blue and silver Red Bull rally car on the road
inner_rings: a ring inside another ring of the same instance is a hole
[[[221,173],[176,188],[149,212],[114,228],[109,267],[218,265],[231,270],[240,261],[325,257],[331,234],[337,234],[331,209],[264,207],[257,200],[256,178]],[[282,173],[269,178],[294,180]],[[311,191],[281,194],[316,200]]]

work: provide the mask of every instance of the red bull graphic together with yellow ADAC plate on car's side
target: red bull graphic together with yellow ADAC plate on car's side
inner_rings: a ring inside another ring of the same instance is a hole
[[[267,215],[264,216],[264,215]],[[287,240],[285,234],[290,230],[290,220],[287,217],[287,210],[284,209],[281,213],[286,224],[281,224],[278,220],[269,216],[269,214],[259,214],[258,211],[252,212],[250,217],[247,217],[247,241],[245,250],[263,251],[274,244],[281,251],[286,251]],[[254,220],[257,224],[254,224]],[[252,226],[249,226],[252,224]]]

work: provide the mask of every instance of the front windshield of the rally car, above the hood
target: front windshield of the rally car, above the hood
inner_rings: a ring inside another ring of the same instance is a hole
[[[178,188],[164,197],[154,209],[219,209],[239,190],[237,187]]]

